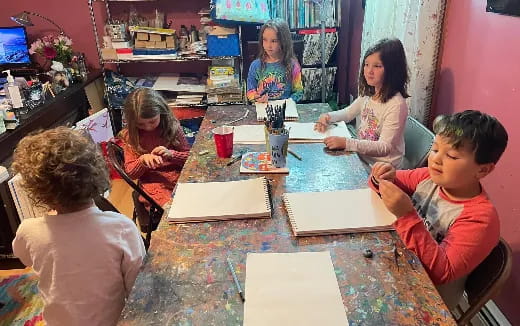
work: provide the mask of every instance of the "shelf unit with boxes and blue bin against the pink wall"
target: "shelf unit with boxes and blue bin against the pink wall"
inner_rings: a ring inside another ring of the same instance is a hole
[[[108,69],[115,69],[116,74],[124,77],[125,75],[149,76],[166,71],[169,73],[193,71],[200,76],[206,74],[210,76],[211,67],[230,68],[232,72],[227,76],[218,76],[218,83],[215,84],[230,88],[225,84],[224,77],[236,79],[236,81],[232,80],[236,89],[233,90],[231,97],[219,96],[218,98],[233,100],[222,101],[222,104],[227,105],[234,102],[239,93],[240,101],[236,103],[245,103],[241,77],[243,70],[241,27],[240,25],[236,27],[208,25],[208,21],[211,20],[210,0],[192,0],[182,4],[173,4],[167,0],[88,0],[88,6],[99,64],[105,80],[107,107],[113,118],[112,121],[115,122],[116,131],[122,127],[118,122],[123,119],[120,117],[121,110],[114,109],[121,107],[120,99],[126,96],[119,95],[118,101],[111,99],[111,79],[106,77]],[[172,25],[174,22],[178,24],[175,28]],[[146,68],[136,65],[142,63],[147,64]],[[187,70],[183,63],[193,64],[193,70],[191,70],[192,66]],[[163,64],[168,64],[167,68],[161,68]],[[210,78],[211,76],[207,79],[208,89],[211,88]],[[201,80],[205,81],[203,78]],[[144,87],[152,87],[161,92],[172,91],[173,99],[178,96],[187,99],[188,102],[189,94],[204,93],[200,103],[182,105],[189,107],[207,106],[207,97],[210,96],[208,92],[193,93],[191,88],[173,91],[157,89],[153,85]]]

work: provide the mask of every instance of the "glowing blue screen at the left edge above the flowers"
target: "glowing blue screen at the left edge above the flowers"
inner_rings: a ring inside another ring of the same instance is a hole
[[[20,66],[31,63],[25,27],[0,27],[0,65]]]

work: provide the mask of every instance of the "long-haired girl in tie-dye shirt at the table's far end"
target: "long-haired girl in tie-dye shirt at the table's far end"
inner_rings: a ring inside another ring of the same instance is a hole
[[[258,44],[258,59],[251,63],[247,75],[247,98],[251,102],[299,101],[303,96],[302,71],[287,23],[281,19],[265,23]]]

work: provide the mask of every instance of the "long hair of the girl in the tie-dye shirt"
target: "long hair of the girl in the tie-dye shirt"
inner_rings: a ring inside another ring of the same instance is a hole
[[[281,62],[285,67],[286,78],[290,79],[293,68],[293,60],[296,60],[296,57],[294,56],[291,30],[289,29],[289,25],[287,25],[284,20],[275,18],[266,22],[260,29],[260,33],[258,34],[258,58],[262,63],[262,69],[265,68],[265,57],[267,55],[265,53],[263,44],[264,31],[266,28],[271,28],[276,32],[278,42],[280,43],[280,50],[282,51]]]

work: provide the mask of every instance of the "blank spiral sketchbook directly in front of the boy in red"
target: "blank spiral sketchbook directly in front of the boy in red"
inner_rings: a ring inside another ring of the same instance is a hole
[[[369,188],[285,193],[283,201],[295,236],[387,231],[396,220]]]

